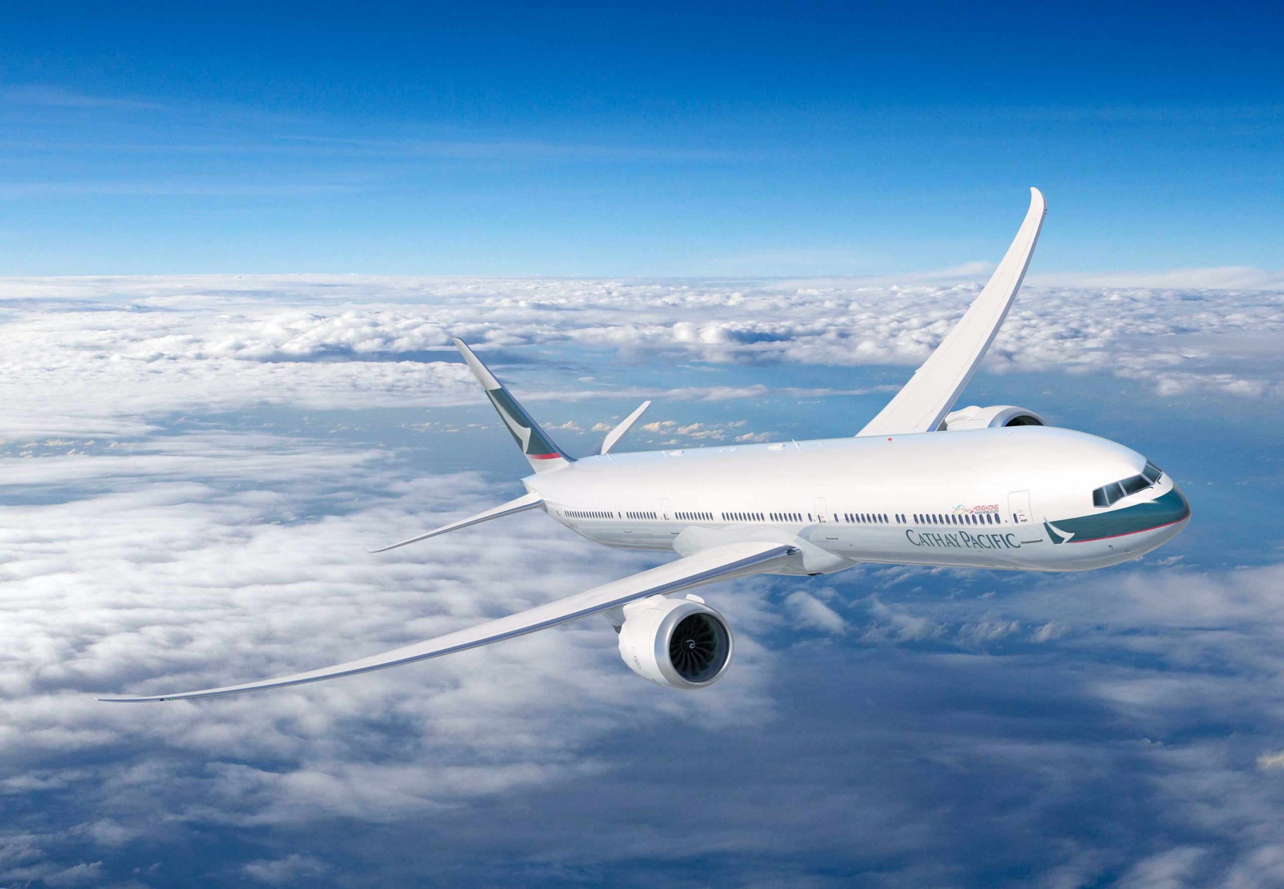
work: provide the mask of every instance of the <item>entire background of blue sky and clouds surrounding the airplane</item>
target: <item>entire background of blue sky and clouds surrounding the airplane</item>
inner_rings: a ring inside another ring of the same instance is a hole
[[[1279,13],[10,6],[0,885],[1279,883]],[[448,335],[571,454],[643,399],[625,448],[847,435],[1028,185],[1040,245],[960,404],[1162,466],[1194,518],[1161,550],[710,586],[709,694],[582,621],[94,700],[657,563],[532,513],[370,554],[520,493]]]

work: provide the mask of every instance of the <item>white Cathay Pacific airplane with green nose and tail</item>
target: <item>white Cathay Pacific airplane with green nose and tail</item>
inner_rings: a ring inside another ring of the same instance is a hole
[[[1174,480],[1107,439],[1048,426],[1014,405],[954,409],[1021,287],[1046,203],[1030,209],[985,289],[887,405],[854,436],[621,453],[650,405],[573,458],[461,340],[455,345],[533,473],[526,493],[375,552],[541,509],[607,546],[675,553],[630,577],[437,639],[333,667],[180,694],[185,700],[353,676],[602,614],[628,667],[657,685],[707,689],[725,675],[725,617],[687,593],[750,575],[814,576],[860,563],[1085,571],[1149,553],[1190,522]]]

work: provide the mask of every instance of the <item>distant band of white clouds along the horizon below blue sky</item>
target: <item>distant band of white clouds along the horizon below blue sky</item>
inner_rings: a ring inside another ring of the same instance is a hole
[[[42,436],[116,434],[167,411],[479,403],[451,349],[452,334],[476,344],[484,358],[496,350],[605,349],[713,364],[909,367],[927,357],[980,286],[806,284],[8,278],[0,282],[8,312],[0,393],[14,435]],[[1111,373],[1168,398],[1278,398],[1284,369],[1272,350],[1280,331],[1284,307],[1275,291],[1027,286],[985,367]],[[684,400],[788,394],[723,382],[615,391]],[[860,391],[868,387],[853,390]],[[523,395],[574,400],[602,391]]]

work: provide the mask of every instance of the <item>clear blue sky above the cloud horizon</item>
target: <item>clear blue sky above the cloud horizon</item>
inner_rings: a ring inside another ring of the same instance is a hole
[[[1279,268],[1279,12],[44,4],[0,272]]]

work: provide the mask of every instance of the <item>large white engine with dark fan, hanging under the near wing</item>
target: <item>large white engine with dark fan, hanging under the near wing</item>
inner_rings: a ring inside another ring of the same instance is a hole
[[[697,595],[652,595],[624,605],[620,657],[642,679],[668,689],[702,689],[731,666],[725,618]]]

